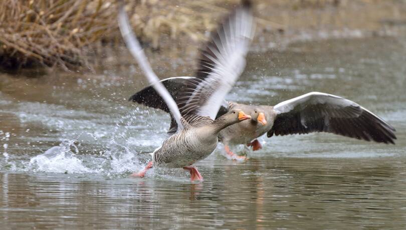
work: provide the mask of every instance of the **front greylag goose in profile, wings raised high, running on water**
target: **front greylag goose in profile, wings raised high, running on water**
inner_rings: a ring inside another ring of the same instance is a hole
[[[243,1],[212,33],[211,40],[201,50],[197,77],[185,83],[179,91],[177,103],[149,65],[123,6],[118,20],[127,47],[177,123],[177,132],[155,149],[152,161],[144,170],[132,175],[144,176],[152,165],[182,167],[190,172],[192,181],[202,180],[198,170],[190,165],[215,150],[218,134],[223,128],[251,118],[238,108],[216,117],[224,97],[245,67],[245,56],[254,34],[251,3]]]

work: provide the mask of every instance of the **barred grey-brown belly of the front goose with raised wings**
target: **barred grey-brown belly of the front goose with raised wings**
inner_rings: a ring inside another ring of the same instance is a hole
[[[217,147],[217,138],[201,141],[194,132],[172,135],[154,152],[153,163],[163,167],[185,167],[209,156]]]

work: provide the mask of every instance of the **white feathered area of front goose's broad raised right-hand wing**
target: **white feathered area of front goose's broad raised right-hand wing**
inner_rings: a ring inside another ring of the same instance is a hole
[[[217,31],[219,40],[214,40],[214,43],[219,48],[219,51],[211,49],[215,56],[206,55],[216,65],[205,80],[223,80],[220,85],[217,85],[218,88],[210,96],[209,100],[206,101],[206,104],[202,105],[197,112],[199,115],[210,116],[212,119],[216,118],[222,105],[221,101],[224,100],[227,93],[243,73],[249,45],[255,34],[255,21],[252,9],[246,11],[243,8],[237,8],[233,18],[229,18],[229,23],[229,25],[223,24],[222,31]],[[204,83],[202,82],[201,84]],[[195,89],[193,95],[200,89],[201,84]]]

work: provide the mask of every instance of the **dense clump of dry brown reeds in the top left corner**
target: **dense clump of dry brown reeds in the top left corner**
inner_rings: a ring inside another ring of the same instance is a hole
[[[1,64],[87,64],[81,48],[111,31],[110,14],[103,0],[3,0]]]

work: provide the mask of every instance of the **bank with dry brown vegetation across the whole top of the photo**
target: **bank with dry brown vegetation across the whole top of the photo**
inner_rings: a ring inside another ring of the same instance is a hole
[[[178,40],[197,44],[238,2],[127,0],[126,7],[137,35],[156,49]],[[318,28],[378,29],[383,19],[393,19],[392,14],[395,20],[403,18],[400,12],[406,4],[401,0],[254,2],[260,34]],[[106,47],[122,44],[116,15],[115,0],[3,0],[0,66],[92,69],[98,59],[104,58],[100,53]]]

